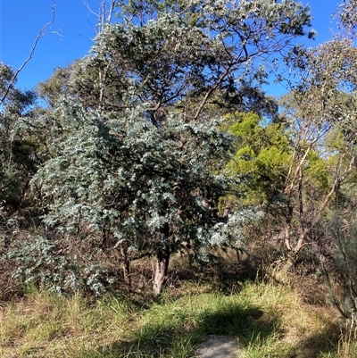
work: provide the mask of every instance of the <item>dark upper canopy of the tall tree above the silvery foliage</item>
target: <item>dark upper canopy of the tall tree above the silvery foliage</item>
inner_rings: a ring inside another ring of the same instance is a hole
[[[149,103],[152,121],[172,107],[197,120],[215,94],[236,104],[252,96],[260,65],[312,37],[308,26],[310,9],[292,0],[124,2],[72,85],[88,108]]]

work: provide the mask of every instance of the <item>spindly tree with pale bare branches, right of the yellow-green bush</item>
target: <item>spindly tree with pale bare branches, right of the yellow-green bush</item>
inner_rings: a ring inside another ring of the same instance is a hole
[[[355,171],[357,49],[336,37],[290,61],[302,80],[282,99],[294,151],[281,234],[295,257]]]

